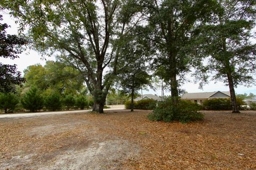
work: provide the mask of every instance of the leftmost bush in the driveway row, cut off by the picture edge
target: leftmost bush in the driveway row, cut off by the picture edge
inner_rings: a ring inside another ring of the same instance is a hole
[[[4,113],[12,113],[19,104],[17,95],[13,93],[0,94],[0,109],[4,110]]]

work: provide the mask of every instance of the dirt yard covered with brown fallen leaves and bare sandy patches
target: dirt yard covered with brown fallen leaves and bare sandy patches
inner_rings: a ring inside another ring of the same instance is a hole
[[[256,112],[181,124],[150,111],[0,118],[0,169],[256,169]]]

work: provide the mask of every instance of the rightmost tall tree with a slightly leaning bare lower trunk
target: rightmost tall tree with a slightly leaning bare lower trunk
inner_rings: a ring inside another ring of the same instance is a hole
[[[256,45],[251,33],[255,26],[255,1],[217,1],[218,11],[211,22],[198,30],[201,45],[197,53],[209,58],[203,70],[214,74],[213,79],[227,82],[233,113],[239,113],[235,87],[251,84],[255,72]],[[199,37],[199,36],[198,36]]]

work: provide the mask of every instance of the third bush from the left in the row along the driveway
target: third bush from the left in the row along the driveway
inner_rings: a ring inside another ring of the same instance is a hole
[[[44,106],[49,111],[57,111],[61,108],[61,98],[57,93],[53,93],[44,98]]]

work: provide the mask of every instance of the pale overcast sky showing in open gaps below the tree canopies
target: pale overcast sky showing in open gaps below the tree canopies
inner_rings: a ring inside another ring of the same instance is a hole
[[[3,21],[1,23],[7,23],[11,25],[11,28],[7,29],[7,33],[10,35],[17,34],[18,26],[15,24],[14,19],[10,17],[7,13],[3,14]],[[14,60],[10,60],[8,58],[0,58],[0,62],[4,64],[16,64],[17,70],[23,74],[23,71],[29,66],[34,64],[42,64],[44,65],[47,60],[55,60],[54,56],[52,57],[44,57],[39,55],[35,50],[27,49],[23,53],[19,54],[19,58],[15,58]],[[188,80],[193,80],[193,78],[187,76]],[[256,79],[256,75],[254,76]],[[199,84],[194,82],[187,82],[181,86],[182,89],[185,89],[187,92],[210,92],[210,91],[229,91],[228,86],[225,86],[223,82],[215,82],[212,81],[209,84],[206,84],[202,89],[199,89]],[[256,94],[256,86],[245,87],[245,86],[238,86],[235,88],[236,94]],[[140,92],[140,91],[139,91]],[[153,89],[148,88],[148,90],[143,90],[143,94],[156,94],[161,96],[161,89],[154,91]],[[165,95],[170,95],[170,91],[165,91]]]

